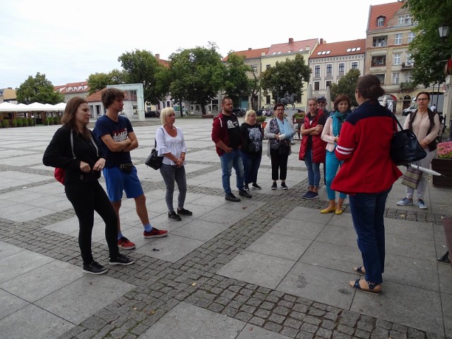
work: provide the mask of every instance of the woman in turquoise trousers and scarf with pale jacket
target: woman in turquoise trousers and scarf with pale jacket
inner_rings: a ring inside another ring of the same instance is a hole
[[[331,116],[326,119],[325,127],[323,127],[321,138],[326,142],[326,193],[328,194],[329,205],[327,208],[320,211],[320,213],[342,214],[342,204],[347,197],[347,194],[340,193],[338,204],[336,205],[336,192],[331,189],[331,183],[338,172],[339,165],[342,165],[342,161],[338,160],[334,150],[338,144],[340,129],[345,119],[347,119],[350,111],[350,98],[347,95],[338,95],[334,100],[334,111]]]

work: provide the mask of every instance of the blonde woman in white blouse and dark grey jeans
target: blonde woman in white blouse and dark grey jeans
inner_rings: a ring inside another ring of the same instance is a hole
[[[192,215],[189,210],[184,208],[186,196],[186,177],[185,177],[185,153],[186,145],[182,129],[174,126],[176,114],[172,107],[166,107],[160,112],[160,120],[163,126],[157,129],[155,140],[157,141],[157,151],[159,156],[163,157],[160,173],[167,186],[165,201],[168,207],[168,218],[171,220],[182,220],[180,215]],[[174,181],[179,189],[177,196],[177,213],[174,211],[172,199],[174,194]]]

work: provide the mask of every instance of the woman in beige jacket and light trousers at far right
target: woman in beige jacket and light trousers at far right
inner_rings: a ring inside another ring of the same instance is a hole
[[[415,133],[417,141],[419,141],[422,148],[427,152],[427,157],[418,162],[420,167],[430,168],[432,159],[436,150],[436,136],[439,132],[439,117],[438,114],[429,109],[430,94],[428,92],[417,93],[416,103],[417,109],[415,112],[408,114],[403,124],[403,129],[410,129]],[[422,210],[427,209],[424,202],[424,193],[427,189],[427,174],[422,172],[422,177],[419,184],[417,184],[417,206]],[[398,206],[412,205],[412,197],[415,190],[406,188],[406,198],[398,201]]]

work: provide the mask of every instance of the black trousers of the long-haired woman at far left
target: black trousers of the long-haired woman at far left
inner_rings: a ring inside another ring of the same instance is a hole
[[[109,257],[116,258],[118,249],[118,219],[112,203],[109,201],[99,182],[80,182],[66,185],[66,196],[71,201],[78,218],[78,246],[82,254],[83,265],[93,261],[91,253],[91,234],[93,233],[94,211],[105,222],[105,239]]]

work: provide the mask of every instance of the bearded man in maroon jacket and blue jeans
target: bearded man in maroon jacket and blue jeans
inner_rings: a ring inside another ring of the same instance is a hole
[[[240,201],[231,191],[230,177],[232,167],[237,176],[237,189],[239,195],[251,198],[251,194],[244,190],[244,171],[242,164],[242,135],[240,134],[239,119],[232,113],[232,100],[223,97],[221,100],[222,111],[218,117],[213,119],[212,140],[215,143],[218,156],[220,157],[222,170],[222,185],[225,190],[225,199],[228,201]]]

